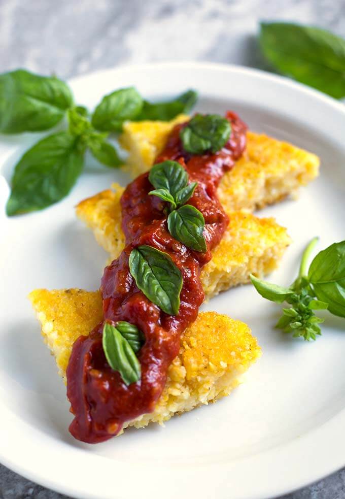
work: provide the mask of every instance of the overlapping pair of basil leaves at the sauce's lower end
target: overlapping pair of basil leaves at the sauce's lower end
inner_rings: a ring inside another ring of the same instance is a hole
[[[141,378],[140,362],[135,353],[142,346],[141,331],[129,322],[120,321],[115,325],[105,322],[102,334],[102,347],[110,367],[118,371],[128,386]]]

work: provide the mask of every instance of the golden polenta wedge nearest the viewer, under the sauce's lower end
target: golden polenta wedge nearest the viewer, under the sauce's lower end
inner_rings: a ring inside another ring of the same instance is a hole
[[[65,376],[73,343],[80,335],[88,335],[102,319],[100,293],[37,289],[29,298],[59,374]],[[155,411],[125,427],[163,423],[176,413],[215,402],[239,384],[241,374],[260,355],[257,340],[246,324],[215,312],[200,312],[181,337],[180,352],[169,367]]]

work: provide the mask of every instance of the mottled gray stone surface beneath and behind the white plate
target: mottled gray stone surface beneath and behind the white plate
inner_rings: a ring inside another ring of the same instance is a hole
[[[260,19],[317,24],[344,36],[345,0],[0,0],[0,72],[23,66],[67,78],[163,60],[264,68],[255,41]],[[0,497],[65,496],[0,465]],[[284,499],[343,497],[345,470]]]

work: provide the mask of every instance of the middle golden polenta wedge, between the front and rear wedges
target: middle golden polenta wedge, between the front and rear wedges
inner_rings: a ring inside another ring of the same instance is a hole
[[[94,232],[97,242],[119,256],[125,245],[121,228],[120,197],[123,187],[105,190],[77,206],[77,215]],[[249,282],[249,275],[262,277],[278,265],[290,244],[286,229],[273,218],[257,218],[249,212],[230,213],[230,224],[212,260],[201,271],[206,298],[224,289]]]

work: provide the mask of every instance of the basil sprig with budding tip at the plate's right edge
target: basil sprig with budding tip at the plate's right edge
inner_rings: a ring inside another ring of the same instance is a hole
[[[304,250],[298,277],[288,288],[251,276],[256,290],[266,300],[291,305],[283,308],[275,327],[306,341],[321,335],[318,324],[324,319],[317,317],[314,310],[328,309],[333,315],[345,317],[345,241],[320,251],[307,271],[307,260],[317,241],[314,238]]]

